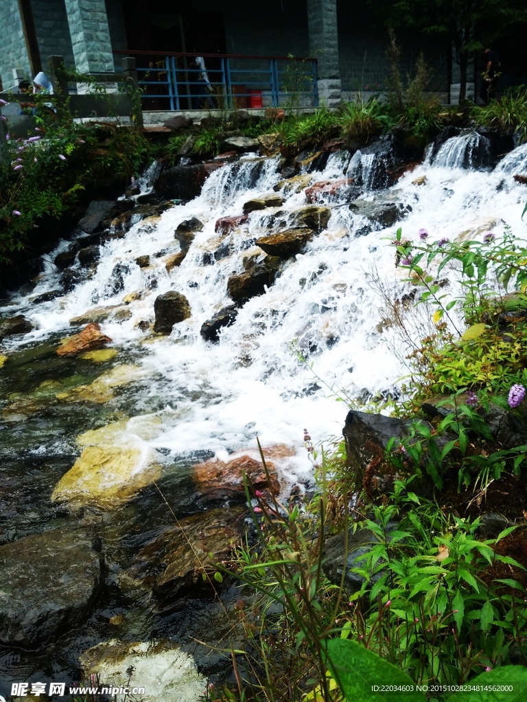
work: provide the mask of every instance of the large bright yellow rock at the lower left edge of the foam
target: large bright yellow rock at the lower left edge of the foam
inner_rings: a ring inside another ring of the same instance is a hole
[[[135,444],[135,445],[134,445]],[[127,446],[86,446],[58,482],[51,500],[76,507],[113,509],[160,477],[155,453],[142,442]]]

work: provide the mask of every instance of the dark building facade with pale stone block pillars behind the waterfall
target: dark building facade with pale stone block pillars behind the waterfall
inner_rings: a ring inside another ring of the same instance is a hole
[[[318,93],[327,105],[384,86],[388,40],[364,1],[355,0],[3,0],[0,45],[4,90],[46,71],[49,55],[82,73],[111,73],[115,51],[200,52],[313,57]],[[412,37],[403,72],[424,46],[432,88],[448,84],[443,43]]]

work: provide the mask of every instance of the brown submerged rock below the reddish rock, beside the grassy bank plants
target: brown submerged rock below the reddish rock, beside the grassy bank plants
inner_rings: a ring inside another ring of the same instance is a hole
[[[230,557],[245,531],[245,512],[231,507],[179,519],[178,526],[139,552],[132,573],[152,585],[157,597],[174,599],[201,582],[204,571],[215,571],[215,563]]]

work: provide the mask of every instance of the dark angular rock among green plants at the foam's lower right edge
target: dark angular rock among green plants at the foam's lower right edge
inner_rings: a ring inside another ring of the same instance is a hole
[[[402,437],[407,433],[407,422],[351,409],[342,433],[347,463],[358,477],[363,477],[372,460],[383,455],[391,437]]]

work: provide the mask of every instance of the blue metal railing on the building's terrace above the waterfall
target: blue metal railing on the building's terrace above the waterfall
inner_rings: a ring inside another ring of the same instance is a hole
[[[115,51],[136,58],[143,110],[200,107],[318,107],[313,58]],[[204,58],[207,81],[195,65]]]

